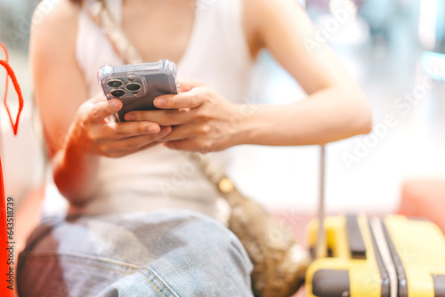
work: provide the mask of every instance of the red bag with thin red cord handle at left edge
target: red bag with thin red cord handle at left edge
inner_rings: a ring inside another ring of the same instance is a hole
[[[19,118],[21,109],[23,108],[23,96],[20,91],[20,85],[17,82],[17,78],[12,71],[11,66],[8,63],[8,52],[4,44],[0,43],[0,48],[4,51],[5,59],[0,60],[0,65],[6,69],[6,82],[4,87],[4,106],[9,116],[9,120],[12,125],[12,131],[14,135],[17,134],[19,129]],[[8,82],[9,77],[11,77],[12,84],[19,97],[19,112],[15,118],[15,123],[12,119],[10,109],[7,104],[7,94],[8,94]],[[1,89],[0,89],[1,90]],[[14,236],[13,236],[13,225],[14,225],[14,209],[13,201],[11,197],[4,197],[4,182],[2,173],[2,160],[0,157],[0,296],[8,297],[12,296],[14,287]]]

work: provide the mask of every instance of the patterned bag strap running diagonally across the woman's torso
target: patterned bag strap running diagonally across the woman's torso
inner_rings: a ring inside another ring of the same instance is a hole
[[[128,63],[142,62],[142,55],[134,47],[134,44],[125,35],[122,27],[113,19],[107,9],[104,0],[92,0],[88,3],[87,12],[91,19],[102,28],[104,34],[109,38],[115,52]],[[206,175],[208,181],[212,182],[216,189],[227,199],[231,206],[237,204],[242,195],[235,188],[233,182],[225,173],[217,170],[208,158],[203,154],[192,152],[188,153],[190,160]]]

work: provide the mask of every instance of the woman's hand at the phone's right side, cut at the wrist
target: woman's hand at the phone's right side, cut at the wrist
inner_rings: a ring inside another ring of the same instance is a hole
[[[180,94],[154,100],[162,110],[132,111],[125,120],[172,126],[173,131],[162,139],[168,148],[206,153],[240,144],[246,119],[240,105],[197,80],[180,82],[180,89]]]

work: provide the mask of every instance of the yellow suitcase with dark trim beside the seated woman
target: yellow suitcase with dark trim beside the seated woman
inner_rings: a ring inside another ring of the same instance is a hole
[[[312,248],[318,222],[308,229]],[[308,297],[445,297],[445,237],[432,222],[340,215],[323,226],[328,256],[307,271]]]

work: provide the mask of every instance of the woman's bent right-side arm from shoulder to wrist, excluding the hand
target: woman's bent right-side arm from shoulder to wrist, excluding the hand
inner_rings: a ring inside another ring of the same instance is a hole
[[[371,130],[366,96],[295,0],[245,0],[247,38],[268,48],[308,94],[263,106],[247,118],[244,139],[268,145],[321,144]]]

